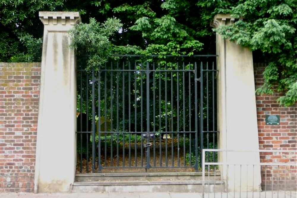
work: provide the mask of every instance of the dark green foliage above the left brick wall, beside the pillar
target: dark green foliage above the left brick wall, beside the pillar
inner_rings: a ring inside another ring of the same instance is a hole
[[[63,4],[64,0],[1,0],[0,61],[40,61],[42,25],[38,11],[55,11]]]

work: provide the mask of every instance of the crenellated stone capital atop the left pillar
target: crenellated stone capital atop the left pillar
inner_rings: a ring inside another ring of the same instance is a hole
[[[39,18],[45,26],[73,26],[81,21],[78,12],[39,12]]]

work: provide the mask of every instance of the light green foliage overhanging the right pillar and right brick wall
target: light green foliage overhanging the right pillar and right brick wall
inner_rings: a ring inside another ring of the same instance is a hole
[[[284,92],[278,102],[285,106],[297,101],[296,3],[293,0],[239,1],[230,13],[244,20],[215,29],[223,37],[263,53],[268,65],[263,73],[265,82],[257,93]]]

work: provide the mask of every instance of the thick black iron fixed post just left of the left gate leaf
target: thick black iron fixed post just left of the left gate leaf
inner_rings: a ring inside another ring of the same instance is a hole
[[[95,172],[95,131],[96,131],[96,126],[95,126],[95,77],[94,77],[94,68],[92,68],[92,137],[93,137],[93,142],[92,142],[92,172]]]

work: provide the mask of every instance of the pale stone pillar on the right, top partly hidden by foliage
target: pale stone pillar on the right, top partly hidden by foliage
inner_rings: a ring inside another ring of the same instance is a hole
[[[214,17],[213,26],[232,25],[229,14]],[[241,47],[221,35],[216,35],[217,48],[217,103],[219,149],[257,151],[259,149],[256,96],[252,51]],[[220,152],[219,160],[227,166],[220,167],[228,191],[259,191],[259,152]],[[232,164],[232,166],[231,166]],[[258,164],[241,166],[234,164]],[[240,175],[241,168],[241,175]],[[254,173],[254,175],[253,175]],[[234,176],[235,175],[235,176]],[[241,177],[241,182],[240,182]],[[254,180],[254,184],[252,184]]]

